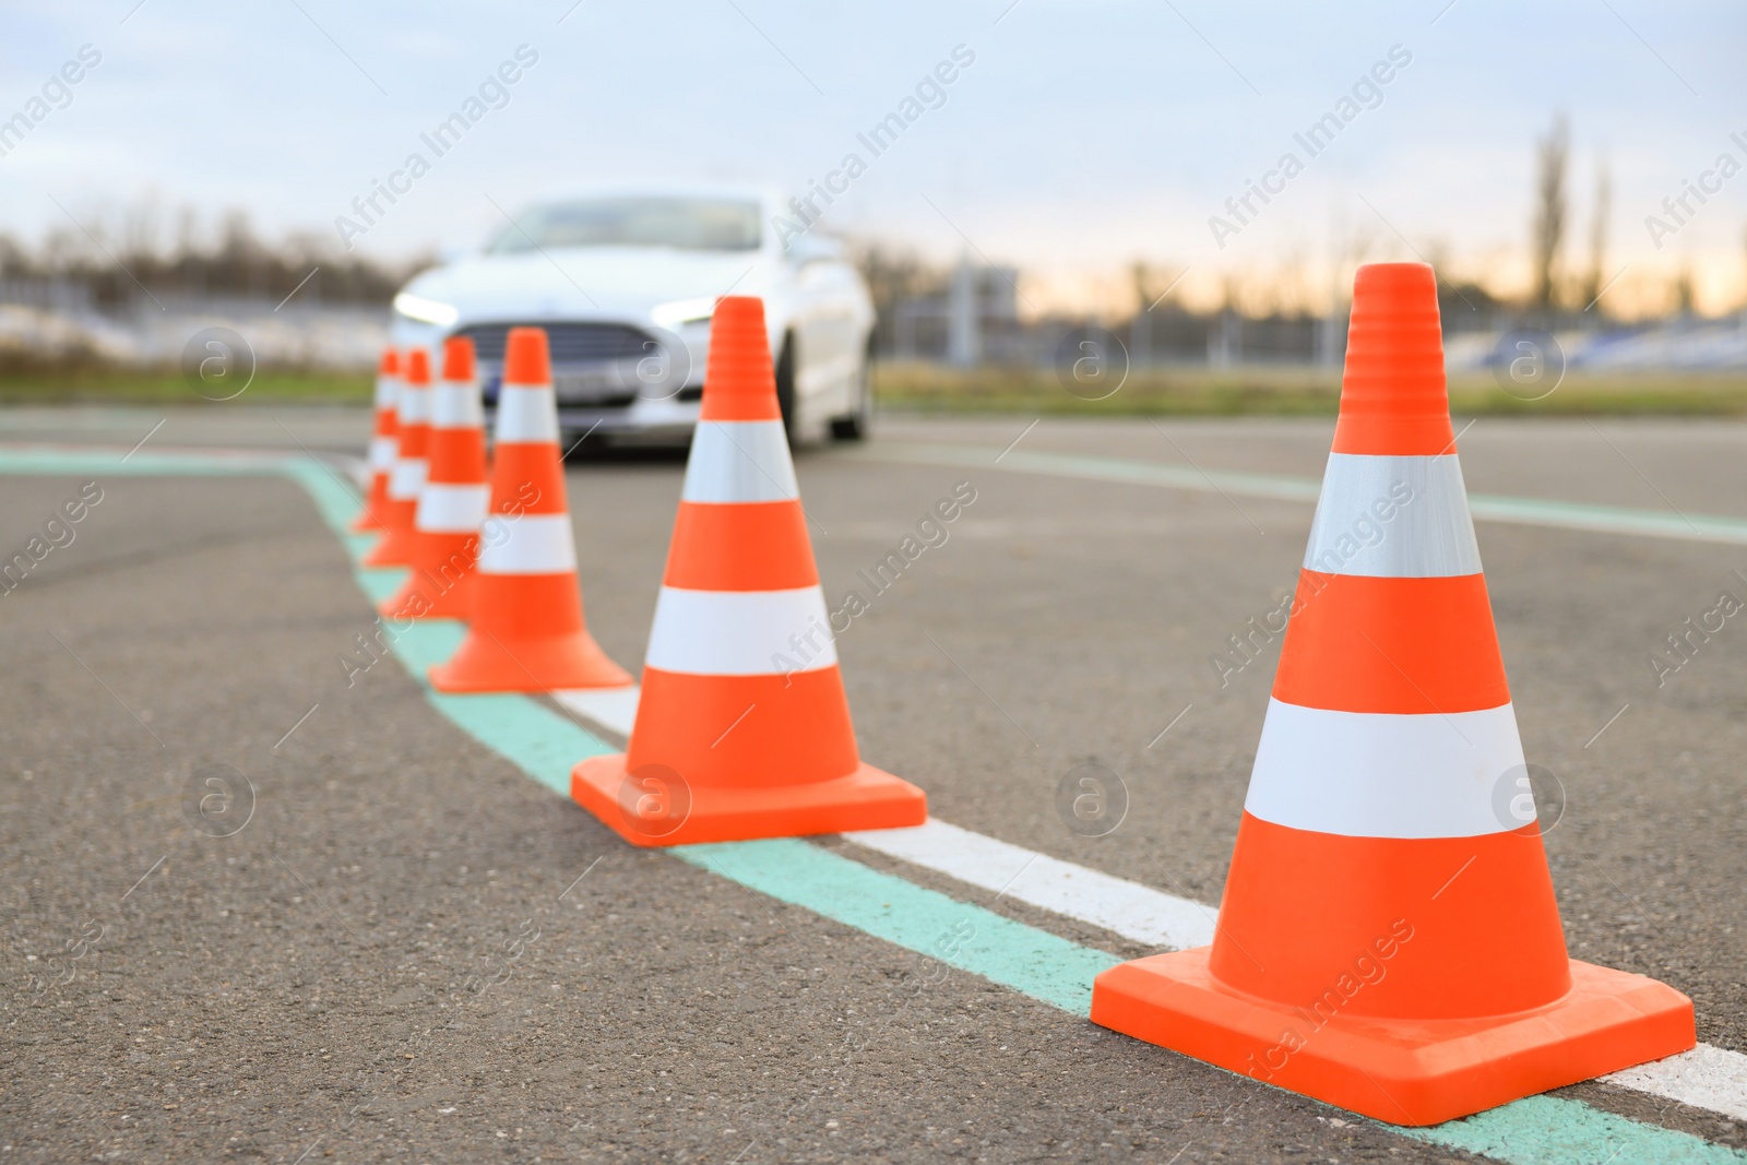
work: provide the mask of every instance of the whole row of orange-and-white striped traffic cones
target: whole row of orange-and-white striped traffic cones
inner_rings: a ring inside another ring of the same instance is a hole
[[[470,620],[438,690],[629,685],[582,618],[545,337],[510,334],[489,505],[465,344],[430,405],[423,353],[383,365],[360,522],[386,531],[370,561],[412,568],[384,613]],[[1338,545],[1377,507],[1389,536]],[[797,641],[819,650],[783,671]],[[1434,278],[1366,265],[1214,941],[1099,975],[1094,1022],[1401,1125],[1691,1048],[1686,996],[1569,957],[1534,812],[1495,809],[1522,765]],[[638,845],[926,819],[856,749],[756,299],[716,306],[627,753],[571,795]]]

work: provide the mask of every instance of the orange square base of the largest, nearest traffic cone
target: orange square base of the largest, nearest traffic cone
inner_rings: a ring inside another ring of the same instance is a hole
[[[1436,1125],[1695,1046],[1693,1001],[1571,961],[1571,994],[1469,1020],[1322,1020],[1207,971],[1211,947],[1123,962],[1092,983],[1092,1022],[1391,1125]],[[1282,1039],[1293,1034],[1296,1050]],[[1275,1067],[1279,1064],[1279,1067]]]

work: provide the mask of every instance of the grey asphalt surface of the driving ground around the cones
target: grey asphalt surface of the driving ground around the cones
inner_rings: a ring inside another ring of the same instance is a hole
[[[162,416],[21,410],[0,440],[119,459]],[[1029,423],[893,417],[798,459],[833,606],[956,482],[977,491],[839,638],[863,756],[936,817],[1218,901],[1277,643],[1226,686],[1209,657],[1293,585],[1312,508],[991,465]],[[211,409],[147,447],[356,454],[367,430]],[[1329,431],[1043,421],[1017,447],[1314,479]],[[914,442],[985,454],[882,454]],[[1488,419],[1460,447],[1476,493],[1747,517],[1744,424]],[[680,479],[671,458],[570,473],[589,620],[627,665]],[[0,477],[0,547],[86,480]],[[348,686],[337,658],[370,608],[297,486],[96,480],[73,541],[0,596],[0,1162],[1466,1158],[636,852],[393,660]],[[1747,625],[1660,688],[1647,662],[1719,592],[1747,599],[1747,547],[1478,534],[1527,753],[1564,788],[1548,852],[1572,954],[1675,985],[1702,1041],[1747,1048]],[[1101,838],[1055,810],[1087,762],[1129,795]],[[236,784],[210,765],[253,789],[224,837],[192,828],[204,781]],[[1747,1125],[1702,1109],[1560,1095],[1747,1148]]]

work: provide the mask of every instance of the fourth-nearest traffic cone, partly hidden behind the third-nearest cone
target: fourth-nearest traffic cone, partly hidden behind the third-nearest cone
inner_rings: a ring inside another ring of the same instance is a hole
[[[412,575],[376,610],[386,618],[468,618],[473,613],[486,484],[486,410],[473,376],[473,341],[451,335],[432,389],[430,472],[412,517]]]

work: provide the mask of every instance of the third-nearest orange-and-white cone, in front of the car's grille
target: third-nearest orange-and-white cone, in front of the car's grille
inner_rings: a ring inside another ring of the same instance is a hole
[[[606,657],[582,618],[557,437],[547,335],[510,328],[473,613],[466,639],[430,672],[438,692],[631,685],[631,674]]]

